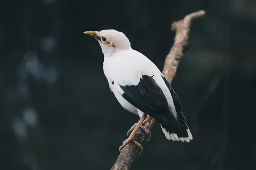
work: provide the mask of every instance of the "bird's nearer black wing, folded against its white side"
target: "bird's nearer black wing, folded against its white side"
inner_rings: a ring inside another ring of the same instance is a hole
[[[136,108],[158,121],[168,121],[163,120],[164,114],[170,114],[168,102],[152,77],[143,75],[138,85],[120,87],[124,91],[122,96]]]

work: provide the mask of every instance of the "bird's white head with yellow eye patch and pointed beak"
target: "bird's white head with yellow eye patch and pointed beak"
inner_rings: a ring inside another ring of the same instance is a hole
[[[111,56],[116,51],[131,49],[131,43],[125,34],[113,29],[85,31],[84,34],[88,34],[98,40],[104,55]]]

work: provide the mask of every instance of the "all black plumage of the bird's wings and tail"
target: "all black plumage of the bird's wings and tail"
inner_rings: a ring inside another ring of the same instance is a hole
[[[163,80],[172,94],[175,110],[178,114],[177,119],[174,117],[175,113],[171,113],[162,89],[150,76],[143,75],[138,85],[120,86],[124,91],[122,96],[136,108],[140,109],[140,111],[143,111],[160,122],[162,127],[170,134],[175,133],[179,137],[188,137],[186,131],[188,127],[182,113],[180,99],[165,77],[163,77]]]

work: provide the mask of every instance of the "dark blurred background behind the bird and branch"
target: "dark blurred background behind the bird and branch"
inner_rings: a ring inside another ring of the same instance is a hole
[[[255,0],[3,0],[0,170],[110,169],[139,117],[109,91],[83,32],[122,31],[162,70],[170,24],[201,9],[172,82],[194,139],[170,142],[156,122],[130,169],[254,169]]]

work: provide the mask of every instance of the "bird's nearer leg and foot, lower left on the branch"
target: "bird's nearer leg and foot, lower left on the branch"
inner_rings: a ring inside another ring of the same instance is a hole
[[[128,137],[128,139],[126,139],[122,146],[119,147],[119,151],[122,150],[123,147],[125,147],[126,144],[130,143],[130,142],[134,142],[135,144],[137,144],[137,146],[140,148],[140,153],[142,153],[143,151],[143,147],[142,147],[142,144],[140,144],[139,142],[135,141],[134,140],[134,136],[136,134],[136,132],[138,131],[140,125],[143,124],[143,121],[145,120],[145,117],[143,118],[140,118],[140,120],[138,121],[137,125],[134,127],[134,130],[131,132],[131,135]]]

